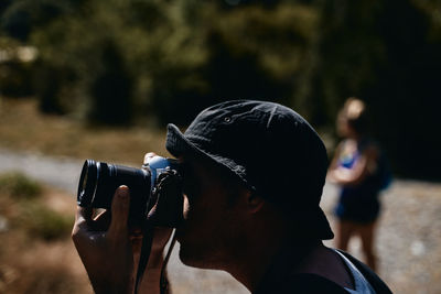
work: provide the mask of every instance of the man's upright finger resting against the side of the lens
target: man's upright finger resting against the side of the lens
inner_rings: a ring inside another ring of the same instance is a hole
[[[115,192],[111,202],[111,221],[108,235],[112,237],[127,235],[127,220],[129,218],[130,193],[127,186],[120,186]]]

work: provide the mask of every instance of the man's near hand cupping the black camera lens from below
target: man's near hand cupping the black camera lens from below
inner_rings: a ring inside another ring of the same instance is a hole
[[[105,211],[78,207],[72,239],[89,275],[95,293],[132,293],[133,252],[127,226],[130,195],[120,186]]]

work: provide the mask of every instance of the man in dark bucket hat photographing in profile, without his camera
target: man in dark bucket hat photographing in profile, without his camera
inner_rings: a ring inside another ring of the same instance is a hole
[[[184,134],[169,124],[166,149],[183,167],[183,263],[227,271],[251,293],[390,293],[365,265],[323,246],[333,238],[319,206],[326,151],[297,112],[266,101],[223,102]],[[109,226],[108,214],[93,219],[78,208],[73,238],[97,293],[132,292],[128,204],[122,186]],[[159,291],[164,236],[154,241],[146,293]]]

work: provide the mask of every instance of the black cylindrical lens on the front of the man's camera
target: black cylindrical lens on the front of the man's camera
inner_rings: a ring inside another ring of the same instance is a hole
[[[120,185],[130,189],[130,214],[142,216],[150,197],[150,172],[123,165],[86,160],[78,183],[79,206],[110,208],[115,190]]]

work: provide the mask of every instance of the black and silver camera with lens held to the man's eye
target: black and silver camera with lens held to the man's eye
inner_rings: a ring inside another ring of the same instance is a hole
[[[173,159],[153,156],[142,168],[86,160],[77,204],[110,209],[115,190],[126,185],[130,189],[129,226],[140,226],[151,218],[157,226],[175,227],[182,218],[181,182],[180,165]]]

